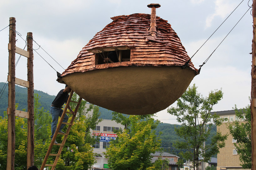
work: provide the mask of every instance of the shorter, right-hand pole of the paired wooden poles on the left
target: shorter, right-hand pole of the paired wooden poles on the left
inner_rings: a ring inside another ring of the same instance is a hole
[[[33,34],[27,34],[28,58],[28,145],[27,145],[27,168],[34,165],[34,78],[33,78]]]

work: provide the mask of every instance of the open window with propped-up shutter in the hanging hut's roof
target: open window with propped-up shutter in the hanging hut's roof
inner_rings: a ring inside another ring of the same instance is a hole
[[[130,61],[131,48],[128,46],[93,48],[87,50],[95,54],[95,65]]]

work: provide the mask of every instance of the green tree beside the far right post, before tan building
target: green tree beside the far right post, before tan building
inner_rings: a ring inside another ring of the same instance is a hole
[[[252,143],[251,143],[251,109],[248,105],[246,108],[237,109],[235,106],[236,120],[228,125],[230,134],[237,140],[234,143],[241,166],[244,169],[252,168]]]

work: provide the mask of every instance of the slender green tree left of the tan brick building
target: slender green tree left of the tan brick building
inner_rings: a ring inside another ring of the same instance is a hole
[[[194,169],[199,169],[198,158],[202,162],[210,160],[211,156],[219,152],[219,148],[225,146],[227,134],[222,135],[217,132],[212,137],[211,143],[203,147],[203,143],[209,138],[210,130],[215,126],[222,124],[223,119],[216,114],[210,114],[212,106],[217,104],[223,98],[221,90],[211,91],[207,97],[202,97],[197,93],[197,87],[194,84],[189,86],[186,92],[177,100],[177,107],[168,109],[168,113],[177,116],[177,122],[181,127],[175,131],[179,137],[184,140],[177,141],[175,147],[186,149],[186,152],[180,152],[186,160],[193,160]],[[206,130],[205,126],[209,130]],[[180,159],[179,164],[183,164]]]

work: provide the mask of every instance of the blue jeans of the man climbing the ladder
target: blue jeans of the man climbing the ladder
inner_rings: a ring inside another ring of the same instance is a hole
[[[59,117],[61,117],[62,113],[63,113],[63,110],[61,108],[57,108],[57,107],[53,107],[51,106],[50,108],[50,113],[52,115],[52,135],[51,135],[51,139],[53,138],[53,135],[55,133],[55,130],[57,128],[57,124],[58,124],[58,120],[59,120]],[[64,116],[64,119],[63,119],[63,122],[68,122],[69,120],[69,117],[67,114],[65,114]],[[64,128],[65,124],[61,124],[60,126],[60,129],[59,130],[62,130]]]

